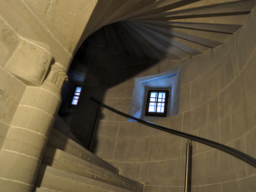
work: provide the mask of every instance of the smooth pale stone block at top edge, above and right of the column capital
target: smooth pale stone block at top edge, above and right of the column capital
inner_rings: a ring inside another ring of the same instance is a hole
[[[95,6],[94,1],[55,1],[49,29],[69,52],[76,48]]]

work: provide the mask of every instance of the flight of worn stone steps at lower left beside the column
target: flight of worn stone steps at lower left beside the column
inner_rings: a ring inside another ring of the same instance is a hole
[[[143,192],[144,185],[53,129],[34,192]]]

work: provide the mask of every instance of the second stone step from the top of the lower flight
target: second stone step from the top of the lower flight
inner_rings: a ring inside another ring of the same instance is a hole
[[[96,166],[78,157],[72,156],[60,149],[47,147],[42,163],[56,169],[70,172],[93,180],[129,189],[134,192],[142,192],[143,184],[128,179],[107,169]]]

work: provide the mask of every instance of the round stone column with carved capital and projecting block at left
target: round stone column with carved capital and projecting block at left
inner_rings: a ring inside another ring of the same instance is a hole
[[[21,41],[5,69],[27,87],[0,152],[0,191],[31,192],[67,75],[48,51],[26,41]]]

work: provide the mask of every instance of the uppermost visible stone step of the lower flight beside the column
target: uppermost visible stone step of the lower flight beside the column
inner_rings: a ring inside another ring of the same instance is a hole
[[[119,170],[116,169],[114,166],[105,162],[95,154],[91,153],[90,151],[88,151],[87,149],[55,129],[52,129],[52,133],[49,137],[47,145],[53,148],[58,148],[68,154],[79,157],[80,159],[93,163],[96,166],[103,167],[111,172],[119,173]]]

